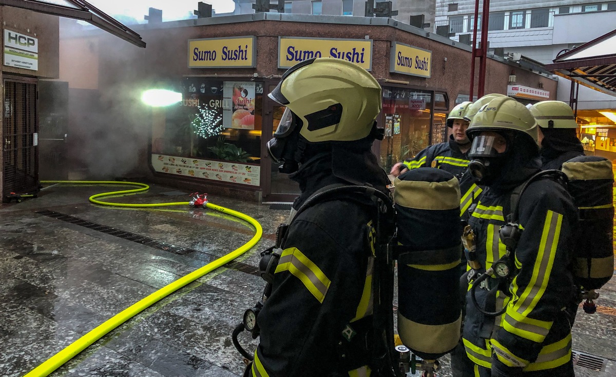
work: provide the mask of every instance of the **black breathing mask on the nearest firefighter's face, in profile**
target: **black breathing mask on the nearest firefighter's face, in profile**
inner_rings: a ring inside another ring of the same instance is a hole
[[[267,152],[276,163],[282,163],[278,171],[291,174],[298,171],[304,144],[300,142],[301,119],[288,108],[280,119],[274,137],[267,142]]]

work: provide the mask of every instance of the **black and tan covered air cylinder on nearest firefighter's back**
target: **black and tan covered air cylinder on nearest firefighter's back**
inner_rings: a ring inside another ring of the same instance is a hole
[[[411,169],[395,179],[398,333],[423,359],[460,339],[460,187],[449,172]]]

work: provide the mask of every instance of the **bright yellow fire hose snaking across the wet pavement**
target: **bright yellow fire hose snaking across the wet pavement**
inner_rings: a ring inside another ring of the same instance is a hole
[[[140,187],[140,188],[136,188],[132,190],[123,190],[123,191],[107,192],[107,193],[100,193],[100,194],[92,195],[89,198],[89,200],[92,203],[96,203],[99,205],[119,206],[119,207],[158,207],[158,206],[188,205],[187,201],[178,202],[178,203],[160,203],[160,204],[127,204],[127,203],[108,203],[105,201],[96,200],[96,198],[100,198],[100,197],[141,192],[141,191],[145,191],[148,188],[150,188],[146,184],[137,183],[137,182],[116,182],[116,181],[107,181],[107,180],[43,180],[41,181],[41,183],[113,184],[113,185],[136,185]],[[261,235],[263,233],[261,224],[259,224],[259,222],[257,222],[252,217],[247,216],[237,211],[233,211],[232,209],[229,209],[229,208],[224,208],[221,206],[213,205],[212,203],[209,203],[209,202],[207,203],[207,207],[210,209],[214,209],[215,211],[229,214],[231,216],[235,216],[235,217],[238,217],[240,219],[243,219],[249,222],[249,224],[253,225],[254,229],[256,230],[253,238],[251,238],[247,243],[242,245],[240,248],[235,249],[235,251],[232,251],[231,253],[223,257],[220,257],[219,259],[216,259],[216,261],[210,262],[206,264],[205,266],[201,267],[200,269],[197,269],[191,272],[190,274],[179,278],[175,282],[167,286],[164,286],[160,290],[138,301],[136,304],[133,304],[132,306],[129,306],[128,308],[122,310],[120,313],[114,315],[107,321],[103,322],[101,325],[94,328],[94,330],[90,331],[89,333],[85,334],[81,338],[77,339],[75,342],[71,343],[69,346],[65,347],[65,349],[63,349],[62,351],[52,356],[46,362],[41,363],[41,365],[31,370],[30,373],[26,374],[24,377],[48,376],[54,370],[61,367],[65,362],[75,357],[75,355],[79,354],[79,352],[86,349],[86,347],[90,346],[92,343],[94,343],[95,341],[105,336],[105,334],[109,333],[109,331],[120,326],[122,323],[126,322],[127,320],[131,319],[135,315],[142,312],[142,310],[147,309],[148,307],[152,306],[152,304],[155,304],[155,302],[159,301],[160,299],[165,298],[166,296],[173,293],[174,291],[179,290],[180,288],[187,285],[188,283],[192,283],[193,281],[197,280],[203,275],[208,274],[208,272],[211,272],[217,269],[218,267],[221,267],[225,263],[237,258],[241,254],[245,253],[250,248],[252,248],[257,243],[257,241],[259,241],[259,239],[261,238]]]

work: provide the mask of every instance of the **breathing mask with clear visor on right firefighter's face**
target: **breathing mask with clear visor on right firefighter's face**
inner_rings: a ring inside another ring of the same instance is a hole
[[[475,136],[472,139],[471,149],[468,156],[471,161],[468,164],[471,176],[482,185],[490,185],[498,177],[509,155],[510,138],[505,134],[500,136]],[[505,138],[505,150],[503,139]]]

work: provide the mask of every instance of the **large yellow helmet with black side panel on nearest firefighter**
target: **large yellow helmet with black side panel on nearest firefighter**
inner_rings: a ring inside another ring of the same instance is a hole
[[[381,112],[381,86],[364,68],[336,58],[309,59],[289,68],[269,97],[302,121],[309,142],[367,137]]]

